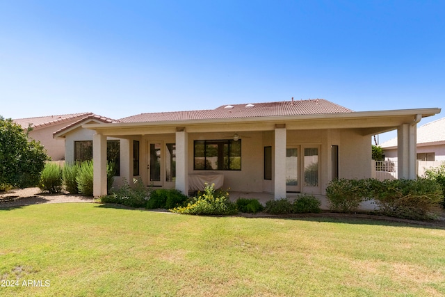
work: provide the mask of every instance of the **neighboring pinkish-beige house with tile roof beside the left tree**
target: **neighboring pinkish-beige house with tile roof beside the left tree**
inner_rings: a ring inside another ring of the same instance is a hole
[[[72,125],[79,120],[88,118],[93,113],[70,113],[66,115],[49,115],[37,118],[15,119],[14,122],[22,126],[24,129],[32,128],[29,136],[35,141],[40,141],[47,150],[48,156],[53,161],[65,159],[65,141],[61,138],[54,138],[55,131]]]

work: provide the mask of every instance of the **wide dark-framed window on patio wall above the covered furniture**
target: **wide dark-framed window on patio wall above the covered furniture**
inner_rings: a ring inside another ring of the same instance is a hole
[[[241,140],[195,141],[195,170],[241,170]]]

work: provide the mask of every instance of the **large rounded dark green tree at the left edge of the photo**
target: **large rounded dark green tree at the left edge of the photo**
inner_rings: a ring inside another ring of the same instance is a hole
[[[0,115],[0,186],[36,186],[49,157],[40,142],[29,139],[31,128],[23,129]]]

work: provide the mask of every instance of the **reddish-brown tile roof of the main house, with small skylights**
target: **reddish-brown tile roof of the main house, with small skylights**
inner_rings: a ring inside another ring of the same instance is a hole
[[[280,115],[315,115],[327,113],[350,113],[350,109],[325,99],[294,100],[254,104],[233,104],[217,109],[200,111],[171,111],[164,113],[141,113],[122,118],[120,122],[167,122],[177,120],[211,120],[225,118],[255,118]]]

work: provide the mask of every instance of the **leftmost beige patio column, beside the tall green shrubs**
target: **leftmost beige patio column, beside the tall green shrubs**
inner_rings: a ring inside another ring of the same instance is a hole
[[[93,189],[95,197],[106,195],[106,136],[92,136]]]

